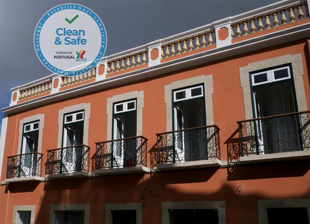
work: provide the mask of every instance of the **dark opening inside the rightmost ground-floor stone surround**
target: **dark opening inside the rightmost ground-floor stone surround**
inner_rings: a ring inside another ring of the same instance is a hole
[[[307,208],[267,208],[268,223],[309,223]]]

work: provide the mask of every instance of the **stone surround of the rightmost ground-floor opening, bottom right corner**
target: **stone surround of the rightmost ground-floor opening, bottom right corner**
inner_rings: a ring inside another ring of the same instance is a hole
[[[268,223],[267,208],[300,208],[306,207],[310,222],[310,203],[309,198],[302,199],[270,199],[257,200],[259,223]]]

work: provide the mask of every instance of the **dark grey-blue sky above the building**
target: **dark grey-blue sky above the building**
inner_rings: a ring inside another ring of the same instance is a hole
[[[10,88],[52,74],[35,54],[33,34],[54,6],[77,3],[95,11],[106,28],[108,56],[274,2],[0,0],[0,108],[9,106]],[[3,115],[1,111],[0,130]]]

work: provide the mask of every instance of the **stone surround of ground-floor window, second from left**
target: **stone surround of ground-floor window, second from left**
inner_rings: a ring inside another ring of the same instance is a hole
[[[59,210],[84,210],[84,223],[89,223],[89,204],[72,204],[72,205],[51,205],[50,223],[54,223],[54,211]]]

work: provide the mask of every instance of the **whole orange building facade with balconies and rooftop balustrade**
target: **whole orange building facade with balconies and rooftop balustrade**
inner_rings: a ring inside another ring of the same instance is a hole
[[[309,223],[307,4],[13,88],[0,222]]]

